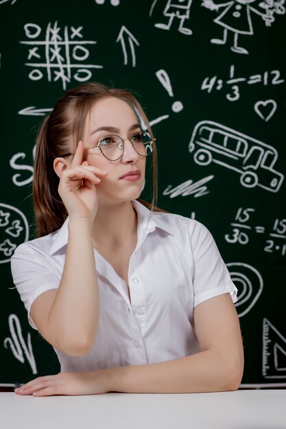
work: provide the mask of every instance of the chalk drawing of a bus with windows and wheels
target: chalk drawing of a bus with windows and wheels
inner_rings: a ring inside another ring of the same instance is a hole
[[[274,170],[278,158],[274,147],[213,121],[195,125],[189,151],[199,165],[215,162],[237,171],[246,188],[260,186],[278,192],[284,180],[284,175]]]

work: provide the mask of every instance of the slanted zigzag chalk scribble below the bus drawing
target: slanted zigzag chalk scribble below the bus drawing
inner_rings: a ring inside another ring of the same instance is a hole
[[[209,193],[207,186],[205,184],[213,180],[214,175],[209,175],[204,177],[204,179],[198,180],[198,182],[193,182],[193,180],[186,180],[186,182],[175,186],[167,186],[163,195],[169,195],[170,198],[175,198],[181,195],[182,197],[187,197],[188,195],[193,195],[195,198],[202,197]]]

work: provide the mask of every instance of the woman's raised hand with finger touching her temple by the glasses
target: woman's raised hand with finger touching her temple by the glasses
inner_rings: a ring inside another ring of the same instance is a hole
[[[62,171],[58,193],[70,219],[87,219],[93,223],[98,208],[96,185],[108,172],[89,165],[83,158],[84,143],[80,141],[71,168]]]

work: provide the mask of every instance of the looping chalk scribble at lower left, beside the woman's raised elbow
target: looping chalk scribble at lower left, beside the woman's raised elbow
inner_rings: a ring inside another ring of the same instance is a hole
[[[31,334],[28,332],[26,344],[25,340],[23,339],[19,317],[17,317],[16,315],[9,316],[9,328],[11,337],[5,338],[5,349],[10,348],[14,358],[19,360],[19,362],[21,363],[25,363],[26,358],[29,363],[29,366],[32,369],[32,373],[38,373],[32,349]]]

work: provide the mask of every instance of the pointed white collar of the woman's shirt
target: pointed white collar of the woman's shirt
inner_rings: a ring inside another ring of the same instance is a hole
[[[173,235],[168,224],[160,216],[160,212],[151,212],[151,210],[136,200],[132,201],[132,206],[137,212],[139,230],[143,231],[144,235],[153,232],[156,228]],[[67,217],[59,230],[52,233],[53,244],[49,252],[50,255],[55,254],[58,250],[67,245],[69,236],[68,224],[69,217]]]

